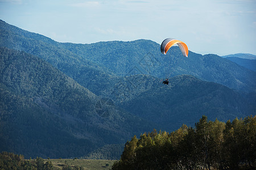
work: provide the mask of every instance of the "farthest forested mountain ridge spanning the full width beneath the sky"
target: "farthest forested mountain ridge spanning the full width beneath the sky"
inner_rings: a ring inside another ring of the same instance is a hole
[[[160,45],[151,40],[60,43],[2,20],[0,29],[0,46],[38,56],[100,96],[113,87],[116,76],[134,74],[158,78],[188,74],[235,90],[255,92],[256,89],[254,71],[214,54],[202,56],[189,51],[185,58],[174,46],[164,56],[160,53]]]

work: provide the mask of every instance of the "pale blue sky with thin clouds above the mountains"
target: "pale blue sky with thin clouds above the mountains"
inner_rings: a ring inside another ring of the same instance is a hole
[[[256,55],[255,0],[0,0],[0,19],[58,42],[170,37],[199,54]]]

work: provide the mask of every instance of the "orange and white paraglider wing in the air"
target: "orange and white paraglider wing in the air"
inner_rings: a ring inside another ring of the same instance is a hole
[[[180,40],[171,39],[171,38],[163,40],[161,47],[160,47],[161,52],[163,54],[166,54],[167,51],[171,48],[171,46],[175,45],[175,44],[177,44],[179,46],[183,56],[188,57],[188,46]]]

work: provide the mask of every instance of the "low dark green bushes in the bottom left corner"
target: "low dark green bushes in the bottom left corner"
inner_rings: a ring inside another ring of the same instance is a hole
[[[0,154],[0,169],[52,170],[53,165],[51,161],[44,163],[42,158],[36,158],[36,160],[25,160],[23,155],[2,152]]]

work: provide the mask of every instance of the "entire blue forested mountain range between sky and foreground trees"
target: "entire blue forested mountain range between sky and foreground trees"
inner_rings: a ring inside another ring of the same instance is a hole
[[[0,46],[1,151],[95,158],[104,150],[116,159],[115,148],[144,131],[193,126],[203,114],[255,115],[255,71],[214,54],[185,58],[174,46],[164,56],[151,40],[61,43],[2,20]]]

